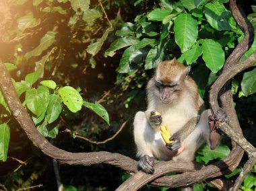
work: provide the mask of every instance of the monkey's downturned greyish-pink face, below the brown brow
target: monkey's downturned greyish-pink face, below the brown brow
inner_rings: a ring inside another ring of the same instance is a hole
[[[155,85],[158,89],[158,98],[162,104],[170,104],[179,99],[181,84],[155,81]]]

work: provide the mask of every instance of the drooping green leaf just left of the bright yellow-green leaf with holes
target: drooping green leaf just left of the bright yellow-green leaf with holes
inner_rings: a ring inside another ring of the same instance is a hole
[[[51,94],[48,108],[46,110],[46,120],[50,124],[57,120],[59,114],[61,114],[61,98],[58,95]]]

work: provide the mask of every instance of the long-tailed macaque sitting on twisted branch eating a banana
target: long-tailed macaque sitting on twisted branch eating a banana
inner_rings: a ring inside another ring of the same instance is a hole
[[[205,141],[211,143],[211,112],[203,111],[203,100],[189,71],[190,67],[176,59],[163,61],[148,82],[148,108],[146,112],[137,112],[133,123],[139,169],[148,174],[154,173],[156,158],[193,161],[195,151]],[[168,125],[173,143],[162,139],[161,124]]]

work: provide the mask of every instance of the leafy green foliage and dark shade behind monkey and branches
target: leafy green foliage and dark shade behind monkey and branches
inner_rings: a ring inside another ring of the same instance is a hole
[[[135,158],[131,122],[135,112],[146,108],[146,83],[158,62],[176,57],[191,65],[207,103],[210,85],[243,39],[227,0],[15,0],[9,5],[11,22],[0,38],[0,57],[39,132],[73,152],[104,150]],[[243,9],[255,27],[255,1],[243,1]],[[242,59],[255,51],[255,43]],[[253,145],[255,72],[252,67],[232,79],[238,119]],[[43,184],[38,190],[55,190],[52,160],[31,145],[1,94],[0,112],[0,182],[8,190],[37,184]],[[107,139],[125,120],[126,128],[104,145],[79,139]],[[224,138],[214,151],[202,147],[196,160],[211,163],[224,158],[229,148]],[[11,157],[27,164],[19,167]],[[235,180],[240,170],[226,178]],[[255,189],[255,170],[243,182],[243,190]],[[65,190],[114,190],[129,177],[108,165],[61,165],[60,173]],[[168,188],[142,190],[149,189]],[[214,190],[205,183],[194,189]]]

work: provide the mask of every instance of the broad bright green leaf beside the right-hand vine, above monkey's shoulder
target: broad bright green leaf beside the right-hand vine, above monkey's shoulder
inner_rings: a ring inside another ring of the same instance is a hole
[[[225,54],[222,46],[212,39],[205,39],[203,42],[203,61],[207,67],[213,72],[217,73],[225,61]]]

